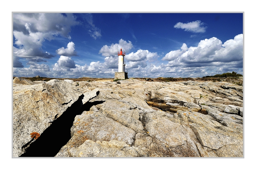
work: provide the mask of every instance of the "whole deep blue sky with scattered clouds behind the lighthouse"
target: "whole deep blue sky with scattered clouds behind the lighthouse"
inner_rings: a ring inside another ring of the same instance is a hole
[[[13,76],[243,74],[243,13],[13,13]]]

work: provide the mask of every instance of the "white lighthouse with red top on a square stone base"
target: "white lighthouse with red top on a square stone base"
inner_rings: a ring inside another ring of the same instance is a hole
[[[117,52],[118,54],[118,72],[115,72],[115,78],[116,79],[127,79],[128,73],[125,72],[125,51],[122,51],[122,48],[120,51]]]

